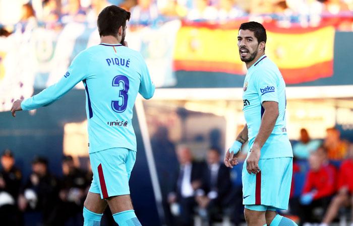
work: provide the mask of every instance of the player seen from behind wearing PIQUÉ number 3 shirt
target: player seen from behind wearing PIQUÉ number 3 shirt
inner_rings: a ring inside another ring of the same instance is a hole
[[[11,109],[15,116],[16,111],[47,106],[77,83],[84,83],[93,171],[83,208],[84,226],[99,226],[107,204],[120,226],[141,225],[129,189],[136,160],[131,120],[137,93],[150,99],[154,85],[142,55],[127,48],[124,41],[129,19],[130,13],[117,6],[103,9],[97,20],[101,43],[79,53],[58,83],[15,101]]]

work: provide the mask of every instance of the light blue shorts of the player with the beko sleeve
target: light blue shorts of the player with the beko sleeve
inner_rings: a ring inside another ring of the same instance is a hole
[[[249,174],[244,163],[242,172],[243,204],[255,211],[288,209],[293,158],[260,159],[260,172]]]

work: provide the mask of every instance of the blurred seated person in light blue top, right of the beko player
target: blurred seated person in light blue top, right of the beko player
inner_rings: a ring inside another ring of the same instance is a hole
[[[298,159],[308,159],[310,153],[314,152],[321,144],[320,140],[310,139],[306,129],[300,130],[299,142],[293,145],[293,156]]]

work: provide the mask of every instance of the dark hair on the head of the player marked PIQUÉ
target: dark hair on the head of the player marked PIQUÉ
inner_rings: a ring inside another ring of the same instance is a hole
[[[125,28],[126,21],[130,20],[130,12],[117,7],[105,7],[98,15],[97,27],[99,36],[116,36],[119,28]]]

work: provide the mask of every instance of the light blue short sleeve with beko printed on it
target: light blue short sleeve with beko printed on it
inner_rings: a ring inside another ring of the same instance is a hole
[[[270,69],[258,69],[254,72],[255,88],[259,94],[261,104],[264,101],[278,103],[278,76]]]

